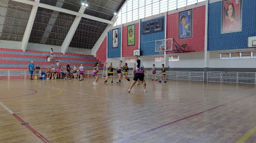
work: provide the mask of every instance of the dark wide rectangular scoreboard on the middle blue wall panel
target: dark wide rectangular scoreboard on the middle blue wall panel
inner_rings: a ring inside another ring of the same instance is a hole
[[[143,21],[143,34],[163,31],[163,18]]]

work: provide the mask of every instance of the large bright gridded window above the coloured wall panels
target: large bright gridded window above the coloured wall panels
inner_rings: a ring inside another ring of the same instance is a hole
[[[205,0],[127,0],[115,25],[124,24],[155,14],[176,10]]]

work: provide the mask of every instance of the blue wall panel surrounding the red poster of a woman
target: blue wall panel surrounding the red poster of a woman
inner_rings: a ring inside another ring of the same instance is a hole
[[[248,48],[248,36],[256,36],[256,0],[242,1],[242,31],[221,34],[221,1],[210,3],[208,50]]]

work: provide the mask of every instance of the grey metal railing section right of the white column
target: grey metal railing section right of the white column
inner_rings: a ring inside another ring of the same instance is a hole
[[[256,72],[207,72],[207,82],[256,84]]]

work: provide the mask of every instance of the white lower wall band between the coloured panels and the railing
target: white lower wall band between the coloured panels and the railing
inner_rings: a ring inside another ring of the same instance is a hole
[[[253,50],[246,50],[251,51]],[[256,68],[256,58],[244,58],[244,59],[228,59],[221,60],[219,58],[220,53],[226,52],[242,52],[241,50],[237,51],[220,51],[220,52],[210,52],[210,68]],[[154,58],[156,56],[140,56],[145,68],[151,68],[154,63],[156,67],[161,67],[164,62],[155,62]],[[163,55],[161,55],[163,56]],[[204,68],[204,53],[203,52],[194,52],[194,53],[182,53],[182,54],[169,54],[169,56],[179,56],[179,61],[170,61],[170,68]],[[129,57],[134,58],[134,57]],[[122,58],[125,63],[125,58]],[[113,63],[114,67],[118,66],[120,58],[109,58],[109,61]],[[128,67],[133,67],[134,63],[128,63]],[[167,67],[165,65],[165,67]]]

